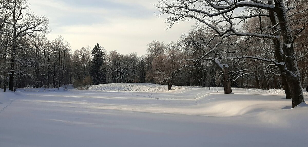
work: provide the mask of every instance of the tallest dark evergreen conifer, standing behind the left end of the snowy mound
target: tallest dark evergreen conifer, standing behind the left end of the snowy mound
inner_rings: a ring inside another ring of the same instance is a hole
[[[104,64],[104,48],[97,43],[92,50],[92,61],[90,66],[90,76],[93,79],[93,84],[105,84],[106,83],[106,71],[103,69]]]

